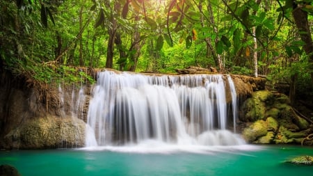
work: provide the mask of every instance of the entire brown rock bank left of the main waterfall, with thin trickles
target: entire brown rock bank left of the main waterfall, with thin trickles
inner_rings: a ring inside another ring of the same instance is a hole
[[[79,86],[51,84],[42,92],[10,72],[0,70],[0,75],[0,148],[84,145],[90,86],[81,97]]]

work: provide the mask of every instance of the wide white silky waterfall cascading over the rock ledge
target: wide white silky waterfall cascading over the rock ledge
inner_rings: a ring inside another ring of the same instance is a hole
[[[232,114],[236,115],[236,90],[231,77],[227,81]],[[88,147],[147,140],[177,145],[243,143],[227,131],[223,74],[174,76],[104,71],[97,75],[92,96],[87,119]]]

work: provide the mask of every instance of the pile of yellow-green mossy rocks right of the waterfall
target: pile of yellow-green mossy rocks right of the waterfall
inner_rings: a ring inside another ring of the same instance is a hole
[[[252,93],[241,106],[239,119],[246,122],[242,134],[248,143],[302,143],[313,132],[286,95],[268,90]]]

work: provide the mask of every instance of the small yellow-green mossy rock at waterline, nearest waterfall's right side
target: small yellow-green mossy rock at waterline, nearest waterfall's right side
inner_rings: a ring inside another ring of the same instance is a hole
[[[257,138],[261,136],[266,136],[267,125],[264,120],[257,120],[252,125],[243,129],[243,138],[248,141],[248,143],[254,142]]]

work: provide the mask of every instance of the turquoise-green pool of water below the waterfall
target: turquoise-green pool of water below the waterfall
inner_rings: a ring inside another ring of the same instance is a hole
[[[255,146],[103,147],[77,150],[1,151],[0,164],[28,175],[312,175],[312,166],[294,166],[287,159],[313,155],[312,147]]]

